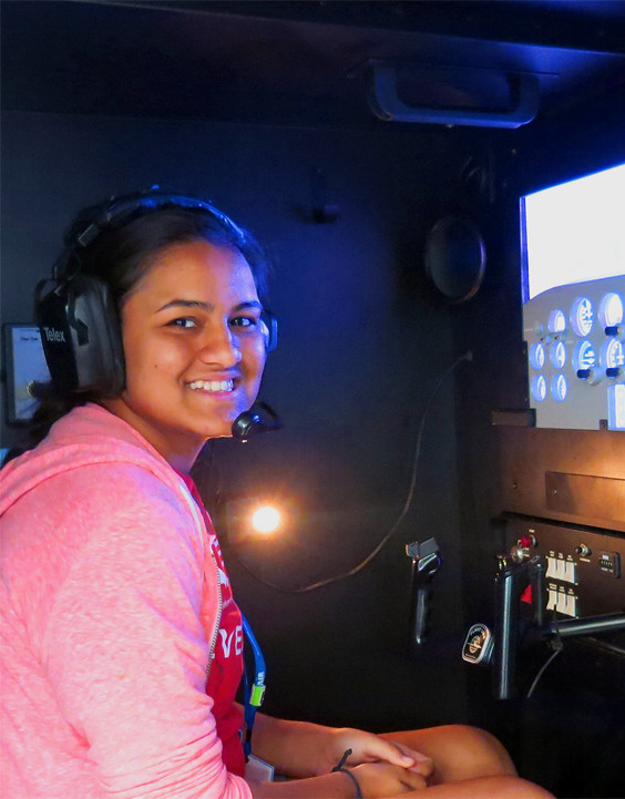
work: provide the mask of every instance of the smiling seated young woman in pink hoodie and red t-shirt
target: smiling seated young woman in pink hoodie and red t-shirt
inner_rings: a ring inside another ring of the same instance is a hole
[[[253,754],[289,779],[246,776],[242,617],[188,473],[257,396],[265,265],[206,204],[122,201],[79,216],[55,289],[104,298],[91,328],[78,299],[68,311],[83,340],[113,304],[122,378],[57,377],[0,472],[2,796],[551,796],[462,726],[376,736],[258,714]]]

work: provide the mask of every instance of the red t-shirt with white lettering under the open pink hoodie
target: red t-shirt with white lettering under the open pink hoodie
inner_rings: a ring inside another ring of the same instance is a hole
[[[243,677],[243,624],[240,611],[234,597],[228,578],[219,542],[213,527],[213,522],[206,513],[197,488],[187,474],[181,474],[185,485],[197,502],[213,550],[213,555],[219,571],[222,590],[222,618],[217,633],[217,642],[211,667],[206,693],[214,700],[213,716],[217,725],[217,735],[224,747],[222,758],[228,771],[243,777],[245,772],[245,755],[240,740],[243,729],[243,715],[235,705],[235,697]]]

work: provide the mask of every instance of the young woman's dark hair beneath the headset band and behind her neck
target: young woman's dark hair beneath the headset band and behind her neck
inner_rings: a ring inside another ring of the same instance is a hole
[[[83,214],[79,214],[70,231],[76,227]],[[69,236],[71,239],[71,234]],[[201,207],[173,204],[157,209],[139,209],[121,224],[104,227],[88,246],[66,250],[61,257],[62,273],[71,275],[79,270],[98,277],[109,286],[120,311],[124,298],[161,250],[198,239],[238,250],[249,265],[260,301],[266,299],[269,266],[259,244],[247,231],[223,224],[217,214]],[[23,440],[8,452],[4,463],[37,447],[52,424],[72,408],[100,399],[94,392],[68,391],[52,382],[38,383],[33,393],[39,400],[38,408],[24,429]]]

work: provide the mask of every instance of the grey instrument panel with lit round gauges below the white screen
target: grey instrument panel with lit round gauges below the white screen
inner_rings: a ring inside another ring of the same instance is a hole
[[[523,326],[536,427],[625,430],[625,275],[550,288]]]

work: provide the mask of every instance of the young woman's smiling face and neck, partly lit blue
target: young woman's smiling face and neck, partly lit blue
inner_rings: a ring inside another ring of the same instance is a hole
[[[181,471],[227,437],[265,366],[262,306],[238,250],[205,240],[162,250],[122,305],[126,388],[105,404]]]

